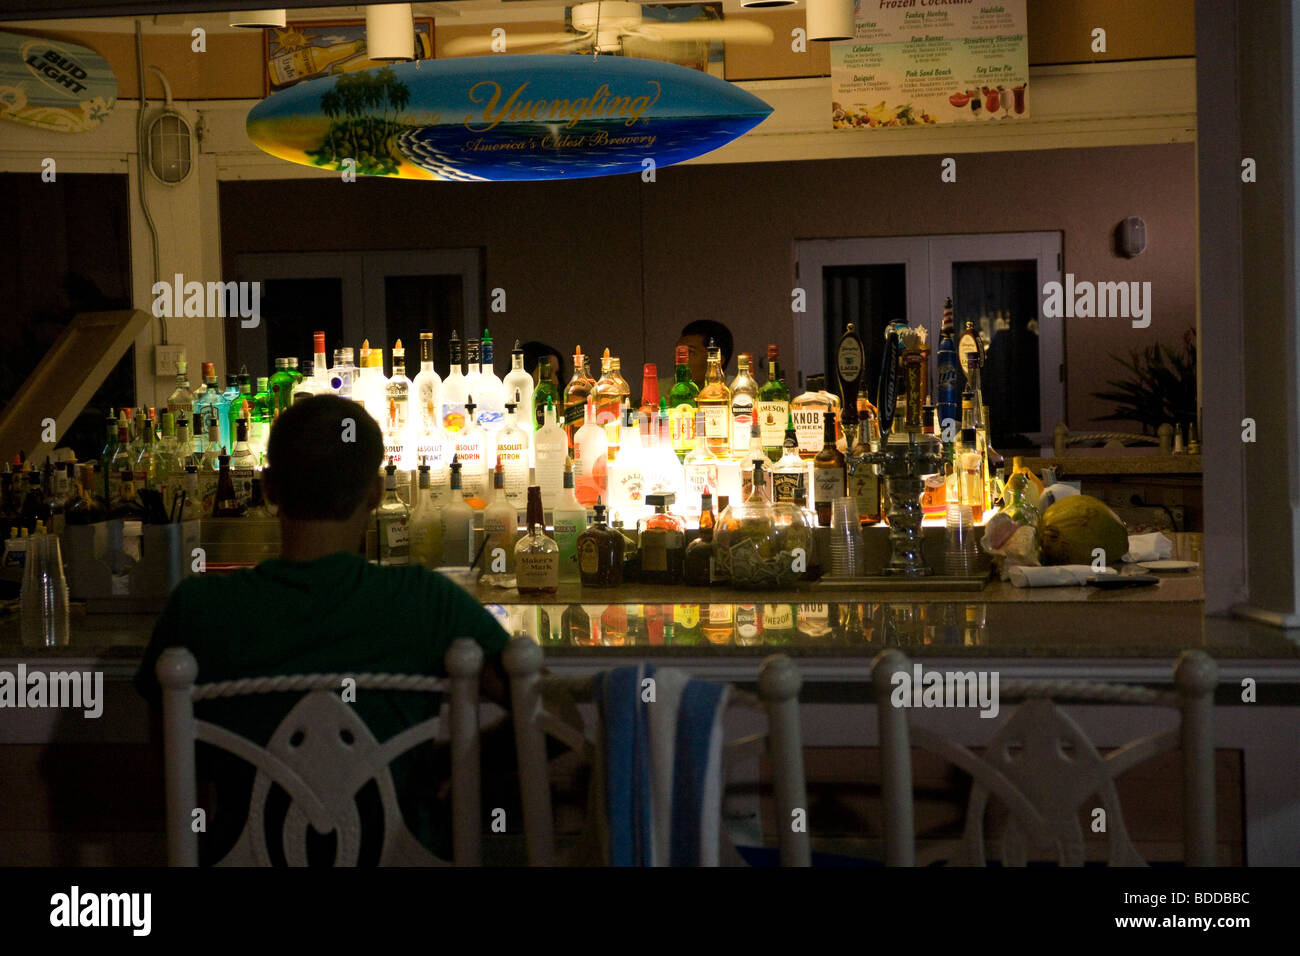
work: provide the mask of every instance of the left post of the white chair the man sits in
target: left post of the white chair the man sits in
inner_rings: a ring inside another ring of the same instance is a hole
[[[162,685],[162,752],[166,786],[169,866],[199,865],[199,836],[191,814],[199,804],[194,767],[194,680],[199,662],[185,648],[168,648],[155,667]]]

